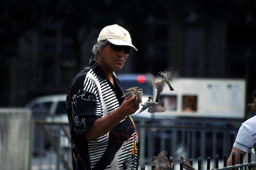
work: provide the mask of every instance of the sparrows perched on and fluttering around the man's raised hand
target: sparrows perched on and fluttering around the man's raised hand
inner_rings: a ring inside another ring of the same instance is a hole
[[[149,113],[155,113],[155,112],[165,112],[166,108],[159,105],[159,98],[160,94],[164,90],[165,84],[167,84],[170,88],[170,91],[174,91],[173,87],[170,84],[170,81],[172,81],[173,75],[172,72],[170,71],[164,71],[164,72],[159,72],[158,74],[161,75],[161,82],[157,81],[155,76],[151,73],[148,73],[148,76],[151,79],[151,84],[154,86],[157,90],[157,95],[156,95],[156,100],[153,102],[153,97],[148,96],[148,100],[144,102],[144,105],[142,104],[142,96],[143,96],[143,90],[139,87],[131,87],[127,90],[125,90],[125,94],[122,96],[129,96],[129,95],[134,95],[136,93],[136,100],[135,104],[133,106],[133,109],[135,109],[140,103],[142,105],[142,109],[140,109],[139,113],[148,109]]]

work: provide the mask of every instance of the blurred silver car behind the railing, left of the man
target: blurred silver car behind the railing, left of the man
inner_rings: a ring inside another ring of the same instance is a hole
[[[26,108],[32,110],[32,118],[34,120],[46,120],[46,121],[61,121],[68,123],[68,116],[66,112],[66,94],[58,95],[48,95],[40,96],[30,101]],[[45,126],[44,126],[45,127]],[[58,125],[49,125],[47,130],[42,130],[42,127],[39,125],[34,126],[34,155],[39,155],[42,152],[42,147],[45,150],[49,149],[51,146],[51,140],[53,138],[46,138],[45,134],[42,132],[50,132],[55,137],[55,140],[58,141],[58,136],[60,135],[60,127]],[[69,130],[69,127],[66,127],[66,130]],[[42,143],[43,142],[43,143]],[[62,147],[70,147],[69,139],[67,137],[61,138]]]

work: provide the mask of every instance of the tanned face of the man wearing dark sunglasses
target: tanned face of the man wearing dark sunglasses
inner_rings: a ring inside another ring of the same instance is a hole
[[[116,51],[107,45],[101,50],[101,56],[106,68],[117,70],[123,67],[128,54],[126,54],[123,49]]]

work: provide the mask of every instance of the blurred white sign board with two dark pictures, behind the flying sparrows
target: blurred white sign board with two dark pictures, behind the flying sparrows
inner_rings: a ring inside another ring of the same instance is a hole
[[[161,81],[161,78],[157,79]],[[160,104],[166,112],[154,117],[187,116],[243,119],[246,107],[246,81],[243,79],[177,78],[166,85]],[[156,89],[153,90],[156,98]]]

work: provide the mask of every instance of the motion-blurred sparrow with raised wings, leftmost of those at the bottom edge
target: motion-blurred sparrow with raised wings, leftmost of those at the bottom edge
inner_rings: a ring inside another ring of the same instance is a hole
[[[167,160],[167,152],[162,151],[157,156],[154,156],[151,161],[155,165],[156,170],[172,170],[171,165]]]

